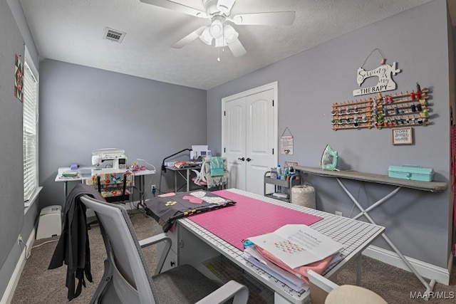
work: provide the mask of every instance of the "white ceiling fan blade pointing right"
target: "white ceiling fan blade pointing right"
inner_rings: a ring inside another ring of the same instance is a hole
[[[289,26],[293,24],[294,11],[271,11],[268,13],[239,14],[232,21],[237,25],[252,26]]]

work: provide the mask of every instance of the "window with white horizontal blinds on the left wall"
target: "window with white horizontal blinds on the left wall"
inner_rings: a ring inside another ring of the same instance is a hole
[[[24,206],[30,206],[38,187],[38,70],[26,48],[24,60],[23,143]]]

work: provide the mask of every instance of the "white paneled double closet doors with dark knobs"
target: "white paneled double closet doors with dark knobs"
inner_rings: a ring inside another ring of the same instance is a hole
[[[264,172],[278,160],[276,100],[277,83],[222,99],[222,156],[230,188],[264,194]]]

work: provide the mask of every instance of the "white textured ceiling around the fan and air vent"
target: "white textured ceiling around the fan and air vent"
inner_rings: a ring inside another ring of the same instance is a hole
[[[201,0],[173,1],[204,10]],[[217,48],[199,39],[170,48],[208,19],[139,0],[19,0],[41,58],[204,90],[428,1],[237,0],[232,15],[291,10],[296,19],[291,26],[234,26],[247,54],[234,58],[226,48],[217,62]],[[123,42],[104,39],[105,27],[126,32]]]

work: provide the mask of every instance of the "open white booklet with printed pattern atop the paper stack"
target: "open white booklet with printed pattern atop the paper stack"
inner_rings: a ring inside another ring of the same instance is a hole
[[[248,238],[286,266],[305,266],[341,251],[343,245],[303,224],[281,226],[270,234]]]

